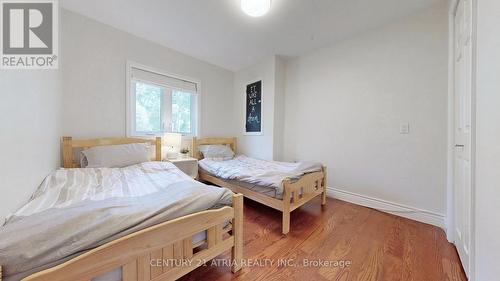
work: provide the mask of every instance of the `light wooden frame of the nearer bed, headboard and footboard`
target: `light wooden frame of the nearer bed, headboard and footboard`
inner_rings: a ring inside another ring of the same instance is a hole
[[[72,140],[64,137],[63,165],[75,167],[72,149],[125,143],[151,142],[155,159],[161,160],[161,138],[155,140],[113,138]],[[232,224],[227,225],[228,221]],[[193,244],[193,236],[206,231],[207,238]],[[63,264],[32,274],[23,280],[91,280],[116,268],[123,281],[176,280],[216,256],[231,250],[231,270],[241,269],[243,257],[243,197],[233,205],[206,210],[151,226],[106,243]],[[0,266],[0,281],[2,279]]]

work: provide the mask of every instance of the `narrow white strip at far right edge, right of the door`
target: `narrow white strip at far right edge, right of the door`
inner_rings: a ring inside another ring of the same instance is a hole
[[[500,2],[477,1],[476,278],[500,276]]]

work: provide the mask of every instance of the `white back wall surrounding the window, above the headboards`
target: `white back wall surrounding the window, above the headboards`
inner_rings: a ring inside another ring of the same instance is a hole
[[[63,133],[126,134],[126,61],[201,81],[202,135],[233,132],[233,73],[62,9]]]

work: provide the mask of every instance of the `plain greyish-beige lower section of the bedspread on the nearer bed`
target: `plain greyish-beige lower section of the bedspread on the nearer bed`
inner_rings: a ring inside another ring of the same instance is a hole
[[[155,173],[167,172],[159,169]],[[102,188],[102,182],[96,186]],[[140,229],[229,205],[232,193],[185,178],[141,196],[103,198],[10,217],[0,227],[0,265],[5,280],[19,280]]]

